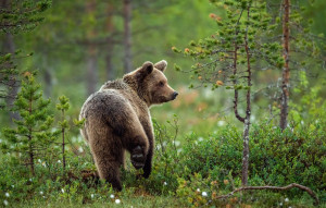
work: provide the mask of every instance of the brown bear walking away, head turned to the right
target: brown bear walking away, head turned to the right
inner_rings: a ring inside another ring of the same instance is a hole
[[[167,62],[145,62],[122,79],[106,82],[85,101],[79,119],[85,119],[82,135],[88,143],[100,179],[121,191],[120,167],[125,150],[143,176],[151,173],[154,135],[149,108],[174,100],[177,91],[163,74]]]

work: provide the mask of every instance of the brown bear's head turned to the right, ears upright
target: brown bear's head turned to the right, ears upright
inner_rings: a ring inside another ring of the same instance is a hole
[[[167,84],[164,75],[167,62],[165,60],[153,64],[145,62],[142,66],[126,74],[123,79],[134,88],[148,106],[174,100],[178,93]]]

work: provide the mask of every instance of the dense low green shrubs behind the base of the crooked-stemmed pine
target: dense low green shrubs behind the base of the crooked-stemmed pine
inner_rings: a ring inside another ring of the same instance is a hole
[[[299,183],[311,187],[325,201],[325,126],[317,122],[281,132],[272,124],[254,125],[250,136],[249,184],[284,186]],[[242,140],[240,132],[231,126],[201,142],[195,134],[190,135],[179,158],[179,163],[189,169],[190,175],[200,173],[211,181],[216,180],[222,188],[226,187],[223,182],[230,178],[236,186],[240,185]]]

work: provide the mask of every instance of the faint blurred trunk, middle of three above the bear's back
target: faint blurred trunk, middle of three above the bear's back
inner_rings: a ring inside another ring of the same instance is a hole
[[[114,50],[114,42],[112,34],[114,32],[114,25],[112,21],[113,16],[113,5],[111,3],[108,3],[108,20],[106,20],[106,33],[108,33],[108,48],[106,48],[106,56],[105,56],[105,64],[106,64],[106,78],[109,81],[112,81],[115,78],[115,71],[112,64],[112,56]]]

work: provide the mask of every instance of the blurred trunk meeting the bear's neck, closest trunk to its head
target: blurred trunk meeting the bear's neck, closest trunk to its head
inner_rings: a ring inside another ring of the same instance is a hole
[[[131,64],[131,1],[124,0],[124,48],[125,48],[125,56],[124,56],[124,68],[125,72],[133,71]]]

